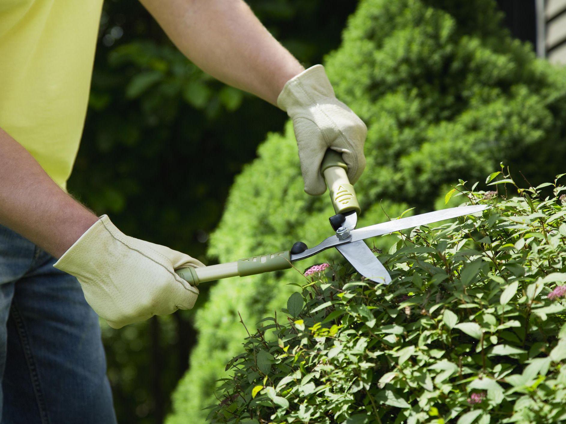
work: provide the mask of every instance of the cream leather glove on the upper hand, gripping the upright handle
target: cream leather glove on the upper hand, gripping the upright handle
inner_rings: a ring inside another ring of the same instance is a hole
[[[322,65],[287,81],[277,106],[293,120],[305,192],[316,195],[326,191],[320,164],[328,148],[342,153],[351,184],[358,180],[366,166],[366,124],[336,98]]]

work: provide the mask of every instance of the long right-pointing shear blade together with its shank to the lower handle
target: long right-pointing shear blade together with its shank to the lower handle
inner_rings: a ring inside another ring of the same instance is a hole
[[[311,257],[331,247],[351,244],[354,241],[365,240],[369,239],[370,237],[381,236],[390,232],[406,230],[407,228],[431,224],[433,222],[443,221],[445,219],[457,218],[461,217],[462,215],[475,214],[477,212],[481,212],[482,210],[488,209],[489,207],[490,206],[488,205],[451,207],[449,209],[415,215],[414,217],[395,219],[393,221],[383,222],[381,224],[375,224],[369,227],[358,228],[357,230],[351,231],[351,235],[350,237],[348,237],[348,239],[340,240],[335,235],[330,236],[313,248],[305,250],[305,252],[292,254],[291,262],[300,261],[301,259]]]

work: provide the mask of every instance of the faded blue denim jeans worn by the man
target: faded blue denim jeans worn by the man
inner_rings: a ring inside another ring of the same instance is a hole
[[[0,226],[1,424],[115,423],[98,317],[54,263]]]

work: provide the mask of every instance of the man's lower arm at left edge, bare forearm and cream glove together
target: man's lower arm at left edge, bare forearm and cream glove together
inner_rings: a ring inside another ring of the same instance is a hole
[[[198,289],[174,270],[203,266],[190,256],[134,239],[65,193],[31,154],[0,129],[0,224],[76,276],[92,308],[115,328],[191,309]]]

